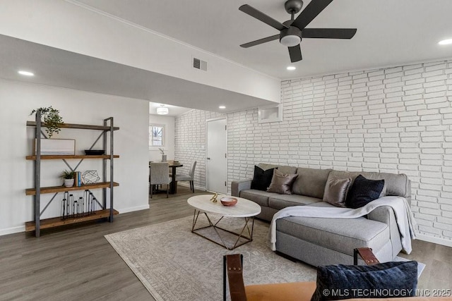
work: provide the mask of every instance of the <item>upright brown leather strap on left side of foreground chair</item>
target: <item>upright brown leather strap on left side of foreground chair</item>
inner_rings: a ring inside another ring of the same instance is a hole
[[[225,255],[226,272],[232,301],[246,301],[240,254]]]

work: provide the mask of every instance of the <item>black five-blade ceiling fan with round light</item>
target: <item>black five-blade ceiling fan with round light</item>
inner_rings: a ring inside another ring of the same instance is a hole
[[[328,6],[328,4],[331,4],[332,1],[333,0],[312,0],[294,20],[295,14],[302,9],[303,1],[288,0],[285,2],[284,6],[285,11],[290,13],[291,18],[283,23],[278,22],[248,4],[242,5],[239,7],[240,11],[261,20],[263,23],[279,30],[280,33],[279,35],[272,35],[270,37],[264,37],[263,39],[242,44],[240,47],[248,48],[275,39],[280,39],[280,43],[289,48],[290,61],[295,63],[302,60],[302,49],[299,47],[302,38],[351,39],[356,33],[356,28],[305,28],[317,15],[319,15],[319,13],[321,13],[321,11],[323,11],[323,9],[326,8],[326,6]]]

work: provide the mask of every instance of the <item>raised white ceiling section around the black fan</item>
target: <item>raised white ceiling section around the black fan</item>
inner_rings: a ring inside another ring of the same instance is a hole
[[[437,44],[452,38],[451,0],[335,0],[307,27],[357,28],[357,34],[350,40],[303,39],[295,71],[285,69],[289,54],[278,41],[239,47],[278,34],[239,6],[249,4],[283,22],[290,18],[284,0],[77,1],[281,79],[452,57],[452,46]]]

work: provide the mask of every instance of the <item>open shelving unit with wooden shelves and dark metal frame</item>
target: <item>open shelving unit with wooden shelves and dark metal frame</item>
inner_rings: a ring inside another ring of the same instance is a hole
[[[40,236],[40,230],[45,228],[54,228],[63,225],[69,225],[71,223],[82,223],[84,221],[93,221],[96,219],[108,219],[110,222],[113,221],[113,216],[119,214],[118,211],[113,208],[113,188],[119,186],[119,183],[113,180],[113,166],[114,159],[119,158],[119,156],[114,155],[113,152],[113,142],[114,142],[114,131],[119,130],[118,127],[113,126],[113,117],[109,117],[104,120],[103,125],[83,125],[83,124],[72,124],[64,123],[60,128],[72,128],[81,130],[100,130],[99,137],[93,143],[91,148],[97,143],[100,138],[102,138],[103,147],[109,154],[104,155],[41,155],[41,140],[47,139],[47,136],[42,132],[42,128],[45,128],[45,123],[41,122],[40,111],[36,113],[36,121],[27,121],[27,126],[35,128],[35,138],[36,138],[36,154],[32,156],[26,156],[27,160],[35,161],[35,187],[25,190],[26,195],[34,196],[34,206],[35,206],[35,219],[34,221],[28,221],[25,223],[25,231],[35,231],[35,236]],[[44,138],[43,138],[43,137]],[[109,142],[109,145],[107,143]],[[41,187],[41,161],[42,160],[54,160],[61,159],[66,163],[72,171],[76,171],[76,168],[85,159],[102,159],[102,182],[94,184],[86,184],[81,186],[74,186],[66,188],[64,186],[52,186],[52,187]],[[80,160],[75,168],[72,168],[66,160],[78,159]],[[107,164],[109,162],[109,164]],[[109,168],[107,168],[107,165]],[[107,180],[107,170],[109,170],[109,180]],[[73,216],[67,219],[61,219],[60,216],[54,217],[52,219],[41,219],[41,215],[47,209],[49,204],[58,195],[59,192],[74,191],[74,190],[93,190],[102,189],[102,209],[97,210],[94,214],[85,216]],[[109,189],[109,193],[107,193]],[[46,204],[44,209],[41,211],[41,195],[45,193],[54,193],[54,197]],[[107,195],[109,197],[107,197]],[[109,199],[109,202],[107,200]],[[107,206],[108,205],[108,206]]]

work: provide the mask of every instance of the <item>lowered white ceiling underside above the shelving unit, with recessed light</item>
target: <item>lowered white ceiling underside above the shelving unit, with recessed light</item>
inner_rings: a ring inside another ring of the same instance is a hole
[[[159,104],[225,113],[272,104],[249,95],[6,35],[0,35],[0,45],[0,78],[6,80],[153,100]],[[18,70],[23,68],[33,70],[35,76],[28,78],[19,75]],[[227,108],[219,109],[220,104],[227,104]],[[184,110],[186,111],[181,109]]]

